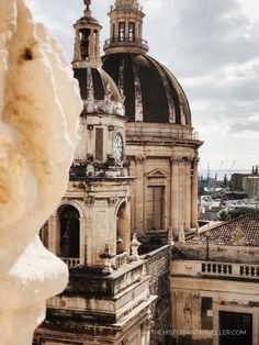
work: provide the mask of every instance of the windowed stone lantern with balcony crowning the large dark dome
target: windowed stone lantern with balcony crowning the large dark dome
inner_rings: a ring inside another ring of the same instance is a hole
[[[143,40],[143,8],[136,0],[116,0],[111,7],[110,40],[105,41],[105,54],[146,54],[148,45]]]

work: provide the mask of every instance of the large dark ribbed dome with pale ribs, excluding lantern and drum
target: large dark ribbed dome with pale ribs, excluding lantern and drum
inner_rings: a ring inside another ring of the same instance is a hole
[[[103,69],[125,97],[130,122],[176,123],[191,126],[188,99],[176,77],[146,54],[103,56]]]

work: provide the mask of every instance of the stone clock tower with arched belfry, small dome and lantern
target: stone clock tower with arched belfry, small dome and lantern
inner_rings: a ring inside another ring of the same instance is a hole
[[[83,266],[110,274],[130,253],[131,193],[125,156],[124,99],[101,68],[101,25],[90,2],[74,25],[72,68],[83,111],[80,140],[67,193],[49,221],[50,249],[70,268]]]

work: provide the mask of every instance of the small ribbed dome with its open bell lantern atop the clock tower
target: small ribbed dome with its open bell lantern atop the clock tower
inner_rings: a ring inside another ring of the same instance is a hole
[[[74,25],[76,31],[72,69],[78,79],[83,111],[88,114],[124,115],[123,100],[113,79],[101,68],[100,30],[102,26],[92,16],[90,0],[85,15]]]

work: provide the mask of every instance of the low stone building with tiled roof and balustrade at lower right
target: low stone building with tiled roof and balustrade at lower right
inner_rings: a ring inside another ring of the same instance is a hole
[[[173,246],[176,344],[259,344],[258,234],[259,218],[243,216]]]

